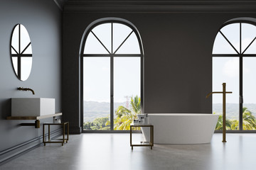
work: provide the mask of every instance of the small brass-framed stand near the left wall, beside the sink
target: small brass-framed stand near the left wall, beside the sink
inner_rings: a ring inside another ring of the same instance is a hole
[[[45,140],[46,136],[45,136],[45,126],[48,125],[48,141]],[[62,139],[55,139],[55,140],[51,140],[50,139],[50,125],[61,125],[63,128],[63,138]],[[67,127],[67,138],[65,138],[65,125]],[[61,145],[63,146],[64,143],[68,143],[68,135],[69,135],[69,123],[65,122],[65,123],[43,123],[43,145],[46,146],[46,143],[61,143]]]

